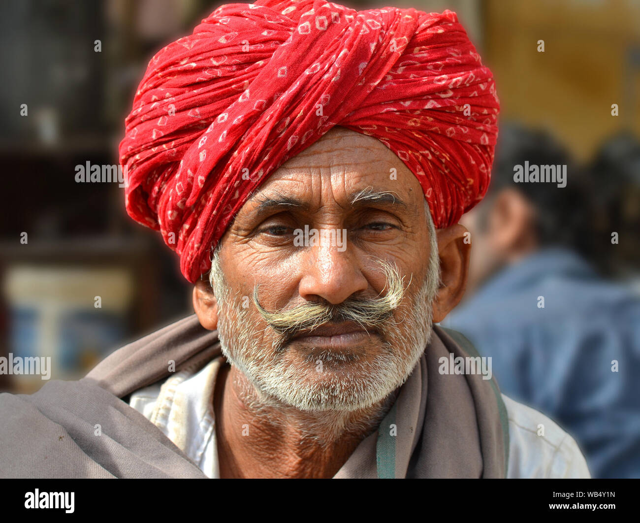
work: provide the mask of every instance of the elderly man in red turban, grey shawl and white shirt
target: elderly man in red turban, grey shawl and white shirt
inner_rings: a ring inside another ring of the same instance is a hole
[[[433,325],[465,289],[497,113],[452,12],[218,8],[150,61],[120,144],[127,211],[180,255],[195,316],[5,399],[0,472],[588,477]]]

